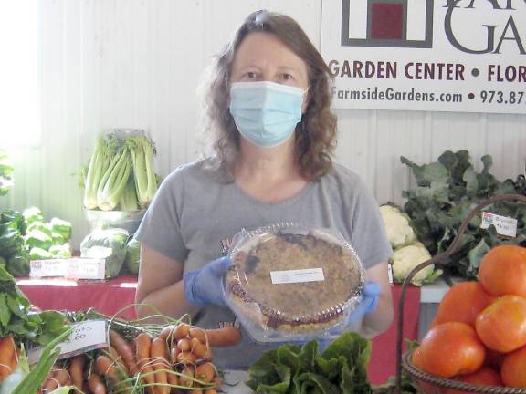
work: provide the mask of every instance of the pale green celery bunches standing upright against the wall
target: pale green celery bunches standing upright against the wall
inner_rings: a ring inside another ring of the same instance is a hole
[[[100,136],[88,170],[80,171],[84,207],[102,211],[146,208],[158,186],[154,155],[153,141],[144,134],[125,139],[115,134]]]

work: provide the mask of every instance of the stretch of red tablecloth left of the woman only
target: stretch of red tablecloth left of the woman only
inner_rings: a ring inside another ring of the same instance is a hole
[[[106,281],[73,281],[67,279],[18,279],[16,284],[29,301],[42,310],[86,310],[132,320],[135,318],[137,276],[125,275]],[[121,310],[122,308],[126,309]]]

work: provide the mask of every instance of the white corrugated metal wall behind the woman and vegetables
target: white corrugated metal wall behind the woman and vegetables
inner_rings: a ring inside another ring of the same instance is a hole
[[[13,152],[16,188],[2,207],[39,206],[88,233],[72,174],[96,136],[149,130],[166,175],[199,155],[195,87],[208,59],[251,11],[289,14],[321,43],[321,0],[40,0],[40,144]],[[526,158],[526,116],[338,110],[337,159],[359,172],[378,202],[402,202],[411,180],[399,157],[436,160],[467,149],[491,154],[493,172],[515,178]]]

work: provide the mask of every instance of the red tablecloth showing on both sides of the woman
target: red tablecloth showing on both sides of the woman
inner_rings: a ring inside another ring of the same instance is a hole
[[[61,279],[19,279],[17,284],[32,304],[43,310],[79,311],[94,307],[105,315],[133,319],[132,307],[137,287],[135,276],[121,276],[109,281],[70,281]],[[369,378],[375,384],[384,383],[395,375],[396,308],[400,296],[400,285],[394,285],[393,302],[395,320],[382,335],[373,339],[373,355],[369,364]],[[418,314],[420,310],[420,288],[410,286],[405,295],[404,337],[418,337]]]

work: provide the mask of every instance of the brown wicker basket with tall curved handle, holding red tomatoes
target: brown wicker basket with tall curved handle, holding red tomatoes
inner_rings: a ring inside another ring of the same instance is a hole
[[[416,368],[411,362],[412,351],[407,351],[402,354],[402,342],[403,342],[403,329],[404,329],[404,300],[405,291],[407,285],[410,284],[413,276],[418,271],[425,268],[430,264],[443,264],[447,258],[457,251],[458,244],[460,244],[460,237],[466,231],[468,223],[471,219],[479,213],[484,207],[500,201],[521,201],[526,202],[526,196],[521,194],[502,194],[495,196],[480,202],[473,210],[468,213],[468,216],[462,222],[458,229],[458,234],[453,240],[453,243],[447,248],[442,254],[437,254],[433,258],[427,260],[422,264],[416,265],[416,267],[407,275],[402,284],[400,298],[398,300],[398,321],[397,321],[397,333],[396,333],[396,393],[401,393],[402,386],[402,368],[405,373],[412,378],[416,383],[418,392],[421,394],[457,394],[458,392],[474,392],[474,393],[489,393],[489,394],[526,394],[526,388],[510,388],[510,387],[494,387],[494,386],[476,386],[468,383],[464,383],[459,380],[440,378],[433,375],[429,375],[423,370]],[[526,373],[526,371],[525,371]]]

